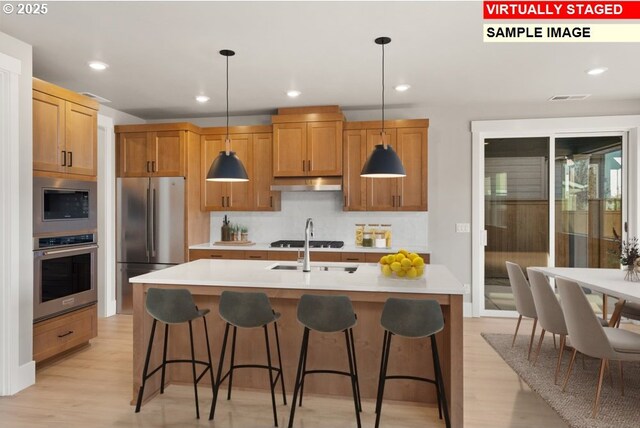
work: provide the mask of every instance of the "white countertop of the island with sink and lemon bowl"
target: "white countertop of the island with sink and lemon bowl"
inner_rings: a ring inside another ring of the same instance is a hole
[[[311,263],[311,266],[358,266],[354,273],[340,271],[271,270],[266,260],[202,259],[130,279],[131,283],[203,285],[225,287],[286,288],[328,291],[363,291],[419,294],[464,294],[464,287],[443,265],[425,265],[417,279],[392,279],[381,275],[376,263]]]

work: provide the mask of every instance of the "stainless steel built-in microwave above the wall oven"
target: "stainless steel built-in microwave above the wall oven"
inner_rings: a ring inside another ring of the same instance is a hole
[[[97,220],[95,181],[33,178],[33,233],[95,231]]]

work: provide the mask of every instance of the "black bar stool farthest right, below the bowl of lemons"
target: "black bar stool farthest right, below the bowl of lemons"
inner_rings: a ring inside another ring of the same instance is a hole
[[[447,395],[444,390],[444,381],[442,379],[442,370],[440,369],[440,359],[438,357],[438,347],[435,337],[435,334],[444,328],[444,319],[442,317],[440,304],[435,300],[397,299],[391,297],[384,304],[380,324],[382,324],[384,328],[384,339],[382,342],[382,358],[380,361],[378,398],[376,399],[376,428],[378,428],[380,424],[384,385],[387,379],[411,379],[434,384],[436,386],[440,419],[442,419],[442,413],[444,413],[445,424],[447,428],[450,428],[451,422],[449,421]],[[431,338],[431,354],[435,379],[416,376],[387,375],[391,337],[393,335],[413,339]]]

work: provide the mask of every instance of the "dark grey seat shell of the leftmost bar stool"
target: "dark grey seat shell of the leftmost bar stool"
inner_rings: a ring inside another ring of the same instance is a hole
[[[165,324],[181,324],[202,316],[189,290],[150,288],[145,308],[149,315]]]

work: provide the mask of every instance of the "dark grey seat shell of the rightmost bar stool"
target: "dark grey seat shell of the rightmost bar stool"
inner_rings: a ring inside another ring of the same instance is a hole
[[[380,324],[398,336],[428,337],[444,328],[444,318],[435,300],[390,297],[382,309]]]

